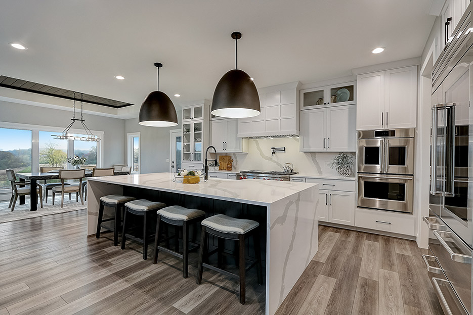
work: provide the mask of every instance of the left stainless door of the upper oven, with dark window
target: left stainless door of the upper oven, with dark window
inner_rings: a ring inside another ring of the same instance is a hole
[[[384,156],[383,139],[358,140],[358,172],[382,173]]]

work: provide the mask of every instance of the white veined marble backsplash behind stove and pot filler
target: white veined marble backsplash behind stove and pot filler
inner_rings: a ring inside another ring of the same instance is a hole
[[[285,147],[286,152],[271,154],[271,147]],[[248,139],[248,153],[229,153],[235,170],[283,170],[292,163],[294,171],[303,174],[337,175],[329,163],[338,153],[299,152],[299,138]],[[355,152],[351,153],[355,155]],[[219,154],[221,155],[221,154]],[[355,158],[354,158],[355,162]],[[352,167],[352,173],[354,167]]]

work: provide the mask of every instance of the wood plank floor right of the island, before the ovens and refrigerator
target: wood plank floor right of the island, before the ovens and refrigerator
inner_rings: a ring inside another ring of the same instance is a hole
[[[319,226],[319,251],[277,315],[442,315],[414,241]]]

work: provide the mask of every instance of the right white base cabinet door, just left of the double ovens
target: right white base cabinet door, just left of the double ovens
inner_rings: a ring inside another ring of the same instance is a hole
[[[355,193],[332,191],[328,195],[328,220],[332,223],[355,224]]]

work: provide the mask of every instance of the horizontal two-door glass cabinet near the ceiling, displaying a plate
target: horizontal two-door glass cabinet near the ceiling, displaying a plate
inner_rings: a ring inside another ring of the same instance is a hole
[[[300,91],[301,110],[356,104],[356,81]]]

